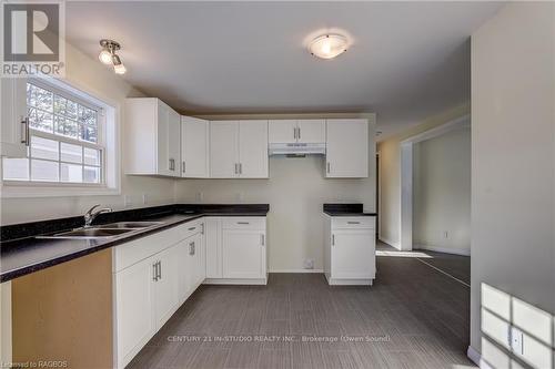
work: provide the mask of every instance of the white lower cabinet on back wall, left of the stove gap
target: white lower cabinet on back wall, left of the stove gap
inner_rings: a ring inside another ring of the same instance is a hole
[[[205,284],[266,284],[265,217],[210,218],[205,243]]]

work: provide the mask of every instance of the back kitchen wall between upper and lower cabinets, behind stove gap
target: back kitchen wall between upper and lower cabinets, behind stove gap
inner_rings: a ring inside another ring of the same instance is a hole
[[[374,137],[374,124],[370,125]],[[324,178],[324,157],[270,158],[270,180],[186,180],[176,184],[182,203],[264,203],[268,215],[270,271],[302,271],[303,260],[323,268],[323,203],[363,203],[375,211],[375,146],[370,146],[370,177]]]

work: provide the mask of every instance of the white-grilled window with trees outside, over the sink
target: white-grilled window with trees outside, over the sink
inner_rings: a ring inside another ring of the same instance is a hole
[[[2,180],[103,185],[104,111],[57,86],[27,83],[30,145],[24,158],[3,158]]]

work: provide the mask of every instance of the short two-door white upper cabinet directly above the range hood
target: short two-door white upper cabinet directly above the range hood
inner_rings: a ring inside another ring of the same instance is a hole
[[[324,120],[275,120],[269,122],[270,143],[324,143]]]

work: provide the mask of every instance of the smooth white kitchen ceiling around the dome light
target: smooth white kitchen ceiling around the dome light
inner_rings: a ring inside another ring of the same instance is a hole
[[[375,112],[382,137],[470,100],[470,35],[498,2],[67,2],[67,37],[182,113]],[[335,60],[306,52],[342,30]]]

